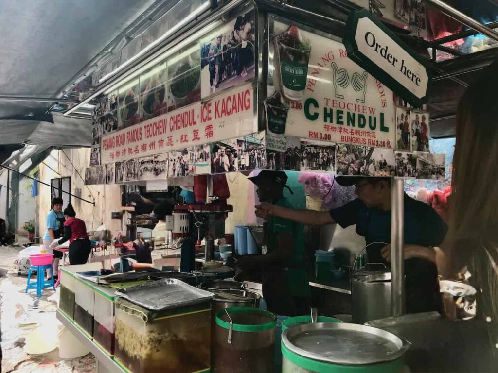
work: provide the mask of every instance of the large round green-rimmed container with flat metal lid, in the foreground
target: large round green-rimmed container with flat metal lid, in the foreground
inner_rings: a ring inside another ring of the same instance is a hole
[[[398,373],[409,346],[366,325],[298,325],[282,334],[282,373]]]

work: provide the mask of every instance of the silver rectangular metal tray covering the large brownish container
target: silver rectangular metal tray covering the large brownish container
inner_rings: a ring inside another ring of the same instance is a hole
[[[209,291],[176,279],[164,279],[126,287],[117,291],[116,295],[152,311],[186,307],[208,301],[215,296]]]

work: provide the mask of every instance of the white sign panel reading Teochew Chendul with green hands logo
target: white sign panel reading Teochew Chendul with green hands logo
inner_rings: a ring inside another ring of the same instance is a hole
[[[274,22],[274,34],[289,28]],[[395,147],[393,94],[347,57],[343,44],[299,30],[311,49],[304,97],[287,101],[286,136]],[[282,58],[280,56],[280,58]],[[273,63],[280,69],[277,59]],[[281,74],[274,74],[279,89]]]

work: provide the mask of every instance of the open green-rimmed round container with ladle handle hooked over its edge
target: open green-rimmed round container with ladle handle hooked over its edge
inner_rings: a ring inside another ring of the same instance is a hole
[[[213,372],[272,373],[276,317],[251,307],[216,314]]]

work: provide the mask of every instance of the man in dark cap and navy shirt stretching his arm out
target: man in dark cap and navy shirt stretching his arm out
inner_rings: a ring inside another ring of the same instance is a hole
[[[276,205],[256,206],[256,215],[267,219],[286,219],[308,225],[339,224],[345,228],[356,224],[364,236],[370,263],[388,264],[391,238],[391,189],[389,178],[341,177],[341,186],[355,185],[358,198],[331,211],[292,210]],[[446,224],[427,204],[404,197],[404,259],[406,311],[409,313],[440,310],[437,268],[437,246],[446,235]],[[385,242],[378,243],[378,242]]]

